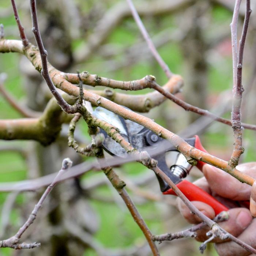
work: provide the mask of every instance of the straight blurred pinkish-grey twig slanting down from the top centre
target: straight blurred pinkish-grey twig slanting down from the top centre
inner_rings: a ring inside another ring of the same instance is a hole
[[[162,59],[162,57],[160,56],[160,54],[158,53],[157,49],[155,48],[150,35],[147,33],[146,28],[144,27],[142,20],[140,19],[140,16],[134,6],[134,4],[132,3],[132,0],[127,0],[127,3],[131,9],[132,12],[132,16],[135,20],[135,22],[137,23],[140,32],[142,33],[144,39],[146,40],[147,44],[148,44],[148,48],[150,49],[151,53],[153,54],[153,56],[155,57],[155,59],[157,60],[158,64],[160,65],[160,67],[163,69],[163,71],[165,72],[167,78],[171,78],[171,76],[173,75],[173,73],[170,71],[168,65],[165,63],[165,61]]]

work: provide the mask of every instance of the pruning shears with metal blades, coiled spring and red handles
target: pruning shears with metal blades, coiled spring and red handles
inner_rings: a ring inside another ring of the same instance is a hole
[[[165,153],[168,151],[177,151],[177,149],[167,140],[162,139],[149,129],[143,127],[142,125],[130,120],[125,120],[123,117],[120,117],[117,114],[114,114],[113,112],[110,112],[109,110],[106,110],[104,108],[97,107],[94,110],[93,114],[95,117],[117,127],[120,130],[120,134],[134,148],[140,151],[148,151],[147,149],[150,148],[150,151],[148,152],[150,156],[158,161],[158,167],[174,182],[174,184],[177,185],[177,187],[181,190],[182,193],[184,193],[189,201],[200,201],[207,203],[214,209],[216,215],[222,211],[228,210],[226,206],[224,206],[214,197],[209,195],[203,189],[197,187],[196,185],[187,180],[182,180],[189,174],[192,165],[187,162],[187,160],[181,153],[178,153],[176,161],[172,166],[167,166]],[[105,137],[102,146],[109,154],[123,158],[127,157],[126,151],[120,146],[120,144],[110,138],[108,134],[102,129],[100,132],[103,133]],[[195,135],[193,138],[185,139],[185,141],[191,146],[201,151],[207,152],[202,146],[200,139],[197,135]],[[163,142],[165,143],[164,152],[162,152]],[[155,152],[159,153],[156,154]],[[199,170],[202,171],[204,164],[204,162],[198,161],[196,166]],[[160,189],[164,195],[176,195],[175,192],[169,187],[169,185],[165,181],[162,180],[161,177],[157,175],[157,178]]]

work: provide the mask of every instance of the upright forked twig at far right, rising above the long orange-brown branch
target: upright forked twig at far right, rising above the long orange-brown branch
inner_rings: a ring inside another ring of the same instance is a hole
[[[234,87],[233,87],[233,104],[231,111],[231,122],[232,128],[234,131],[234,148],[233,153],[230,157],[230,165],[235,167],[238,165],[240,155],[244,152],[242,148],[242,130],[241,130],[241,102],[242,102],[242,93],[244,88],[242,86],[242,61],[244,55],[244,45],[246,34],[248,31],[249,19],[251,15],[250,0],[246,0],[246,12],[244,18],[244,26],[242,30],[242,36],[239,42],[239,49],[237,54],[237,22],[238,14],[240,9],[241,0],[237,0],[234,8],[233,19],[231,23],[231,38],[232,38],[232,53],[233,53],[233,78],[234,78]],[[233,46],[236,47],[234,47]]]

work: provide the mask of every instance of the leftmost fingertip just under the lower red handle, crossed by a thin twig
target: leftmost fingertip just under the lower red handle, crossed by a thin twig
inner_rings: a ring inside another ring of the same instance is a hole
[[[193,201],[191,202],[199,211],[201,211],[208,218],[213,219],[215,217],[214,209],[206,203]],[[202,220],[195,214],[192,214],[191,210],[182,202],[180,198],[177,199],[177,207],[181,215],[192,224],[202,222]]]

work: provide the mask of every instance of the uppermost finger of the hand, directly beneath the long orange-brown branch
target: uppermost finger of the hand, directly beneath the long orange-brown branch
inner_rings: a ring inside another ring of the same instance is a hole
[[[237,166],[238,170],[256,177],[256,163]],[[232,200],[249,200],[251,186],[241,183],[230,174],[211,165],[204,165],[203,173],[212,191]]]

